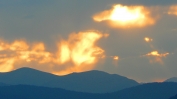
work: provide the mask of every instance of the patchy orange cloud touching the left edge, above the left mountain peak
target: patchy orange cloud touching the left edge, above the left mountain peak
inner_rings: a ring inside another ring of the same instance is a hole
[[[42,64],[50,62],[51,58],[51,53],[45,51],[43,43],[35,43],[32,46],[23,40],[16,40],[12,43],[0,41],[0,72],[13,70],[14,65],[21,61],[36,61]]]

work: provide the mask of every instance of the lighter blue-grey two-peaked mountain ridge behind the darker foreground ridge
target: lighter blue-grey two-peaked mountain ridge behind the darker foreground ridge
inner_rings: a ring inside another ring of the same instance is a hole
[[[114,92],[138,85],[136,81],[126,77],[97,70],[57,76],[27,67],[0,73],[0,82],[10,85],[25,84],[63,88],[89,93]]]

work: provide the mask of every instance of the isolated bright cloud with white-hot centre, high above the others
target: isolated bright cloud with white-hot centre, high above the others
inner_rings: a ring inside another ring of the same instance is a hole
[[[144,6],[114,5],[112,9],[103,11],[93,16],[97,22],[109,21],[113,27],[144,27],[153,25],[155,19],[150,11]]]

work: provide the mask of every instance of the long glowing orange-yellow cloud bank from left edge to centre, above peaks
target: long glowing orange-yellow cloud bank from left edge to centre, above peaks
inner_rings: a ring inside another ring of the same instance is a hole
[[[23,67],[24,64],[34,62],[38,66],[48,64],[48,68],[60,68],[60,65],[69,64],[59,71],[50,71],[56,74],[93,69],[99,58],[104,56],[104,50],[96,42],[107,36],[98,31],[72,33],[68,40],[58,42],[57,52],[46,51],[42,42],[29,44],[24,40],[11,43],[0,40],[0,72],[16,69],[16,65]]]

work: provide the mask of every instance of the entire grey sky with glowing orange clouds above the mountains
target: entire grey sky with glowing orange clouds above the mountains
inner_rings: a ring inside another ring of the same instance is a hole
[[[176,0],[0,0],[0,72],[177,77]]]

